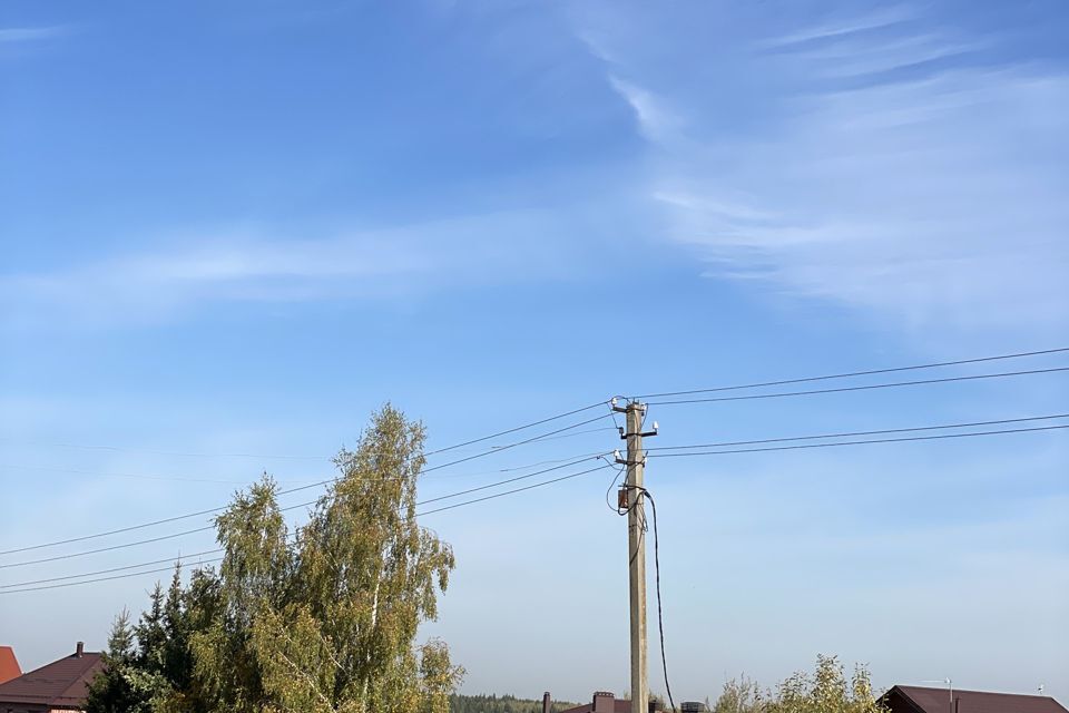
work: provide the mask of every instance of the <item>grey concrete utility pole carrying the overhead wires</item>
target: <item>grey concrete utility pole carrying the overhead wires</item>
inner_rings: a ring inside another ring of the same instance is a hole
[[[627,417],[626,430],[620,438],[627,441],[627,459],[624,460],[627,477],[620,505],[627,507],[627,560],[631,599],[631,713],[647,713],[649,702],[649,676],[646,663],[646,510],[644,507],[643,470],[646,453],[643,436],[656,436],[656,428],[643,432],[646,406],[637,401],[626,407],[612,406],[612,410]]]

